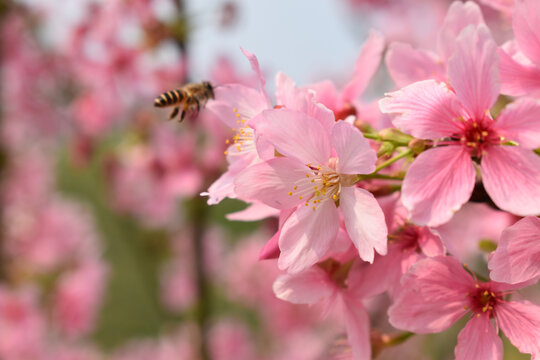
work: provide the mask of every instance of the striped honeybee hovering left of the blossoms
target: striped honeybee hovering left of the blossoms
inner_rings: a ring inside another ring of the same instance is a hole
[[[196,117],[210,99],[214,99],[214,86],[208,81],[203,81],[186,84],[161,94],[154,100],[154,106],[174,106],[169,119],[174,119],[180,113],[180,122],[182,122],[185,117]]]

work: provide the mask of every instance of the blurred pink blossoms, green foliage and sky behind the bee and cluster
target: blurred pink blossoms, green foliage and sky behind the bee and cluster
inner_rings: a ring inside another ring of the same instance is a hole
[[[370,28],[434,48],[449,3],[1,0],[0,359],[347,358],[339,321],[274,297],[277,266],[257,259],[277,219],[230,221],[245,204],[199,196],[230,129],[167,121],[153,99],[189,81],[256,86],[240,46],[270,93],[279,70],[342,84]],[[485,11],[504,39],[507,19]],[[387,305],[370,305],[383,329]],[[379,358],[453,358],[460,328]]]

